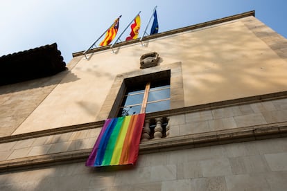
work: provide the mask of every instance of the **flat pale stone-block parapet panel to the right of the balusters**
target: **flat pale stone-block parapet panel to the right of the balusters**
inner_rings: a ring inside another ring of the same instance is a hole
[[[170,136],[287,122],[287,99],[240,104],[170,116]]]

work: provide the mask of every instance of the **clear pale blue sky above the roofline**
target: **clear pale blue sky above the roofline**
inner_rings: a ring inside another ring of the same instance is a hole
[[[140,37],[155,6],[159,33],[255,10],[257,19],[287,38],[286,0],[0,1],[0,56],[57,43],[68,64],[72,53],[89,48],[119,15],[117,37],[141,11]]]

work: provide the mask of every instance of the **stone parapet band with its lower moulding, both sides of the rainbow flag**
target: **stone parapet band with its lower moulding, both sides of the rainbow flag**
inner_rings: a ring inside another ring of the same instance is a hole
[[[204,111],[189,111],[192,108],[171,110],[170,116],[166,116],[169,118],[169,137],[142,142],[140,154],[286,136],[286,98],[261,102],[254,100],[252,103],[232,106],[228,103],[220,108],[214,103],[214,109]],[[173,114],[180,110],[184,113]],[[166,115],[164,111],[159,114]],[[156,117],[156,113],[154,115]],[[102,125],[103,122],[88,123],[2,138],[0,170],[13,171],[17,167],[85,161]]]

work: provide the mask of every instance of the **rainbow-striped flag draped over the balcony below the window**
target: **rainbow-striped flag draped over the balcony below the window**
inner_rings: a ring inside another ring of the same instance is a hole
[[[134,165],[146,114],[105,120],[86,166]]]

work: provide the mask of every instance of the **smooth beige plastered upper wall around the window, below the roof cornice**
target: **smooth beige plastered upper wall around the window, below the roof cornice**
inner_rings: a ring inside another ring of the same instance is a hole
[[[75,57],[70,75],[13,134],[104,120],[99,112],[116,75],[139,71],[139,57],[152,51],[160,66],[182,63],[185,107],[286,91],[286,60],[254,33],[252,21],[258,23],[247,17]]]

